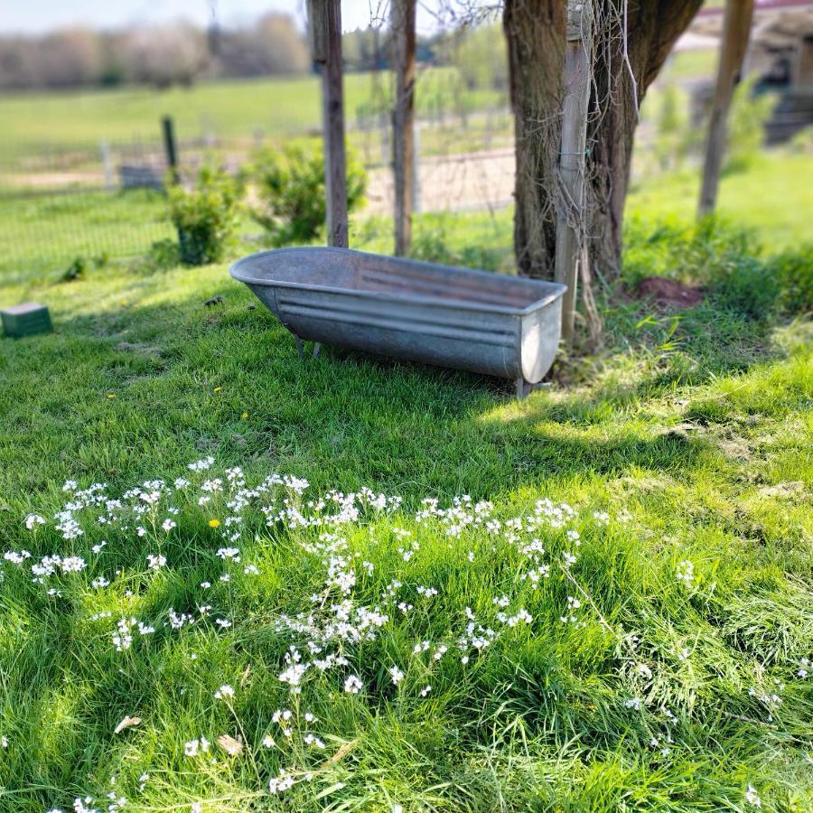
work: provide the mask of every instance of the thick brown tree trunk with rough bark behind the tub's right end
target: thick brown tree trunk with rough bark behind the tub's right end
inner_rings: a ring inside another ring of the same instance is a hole
[[[603,276],[614,276],[621,266],[621,222],[640,102],[702,0],[596,0],[594,5],[588,249],[592,265]],[[565,4],[505,0],[503,25],[517,142],[517,266],[522,275],[550,279],[556,256]]]

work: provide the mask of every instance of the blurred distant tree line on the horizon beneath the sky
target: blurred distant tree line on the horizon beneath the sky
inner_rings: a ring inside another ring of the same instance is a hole
[[[387,70],[389,33],[346,33],[346,70]],[[417,60],[456,65],[468,88],[506,86],[505,42],[498,24],[419,37]],[[304,33],[285,14],[266,14],[241,28],[191,23],[135,25],[117,31],[68,28],[39,36],[0,36],[0,89],[70,89],[150,85],[199,79],[304,74],[312,70]]]

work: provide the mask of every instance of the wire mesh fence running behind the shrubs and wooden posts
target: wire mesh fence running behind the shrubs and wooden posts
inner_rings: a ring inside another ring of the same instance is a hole
[[[313,137],[309,130],[285,137]],[[416,210],[505,207],[513,188],[507,109],[429,116],[417,124]],[[368,173],[361,216],[393,210],[390,123],[379,113],[350,123],[348,144]],[[279,139],[277,139],[279,140]],[[200,135],[177,144],[183,177],[207,160],[237,173],[267,138]],[[104,262],[143,255],[173,238],[166,215],[167,154],[156,122],[153,138],[126,142],[27,146],[0,159],[0,272],[30,273],[76,257]],[[254,224],[256,227],[256,224]],[[247,220],[244,231],[252,224]]]

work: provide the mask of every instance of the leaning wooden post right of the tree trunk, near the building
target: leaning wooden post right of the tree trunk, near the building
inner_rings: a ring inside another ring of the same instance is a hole
[[[751,34],[753,0],[726,0],[723,40],[720,43],[720,63],[717,66],[717,84],[708,125],[706,160],[703,164],[703,183],[697,217],[703,218],[715,210],[717,186],[725,152],[726,120],[734,85],[743,70],[745,51]]]

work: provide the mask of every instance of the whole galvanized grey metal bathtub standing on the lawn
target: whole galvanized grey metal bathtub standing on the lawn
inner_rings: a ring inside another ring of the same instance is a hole
[[[519,397],[556,356],[565,285],[348,248],[279,248],[229,270],[301,354],[316,341],[468,369],[513,379]]]

